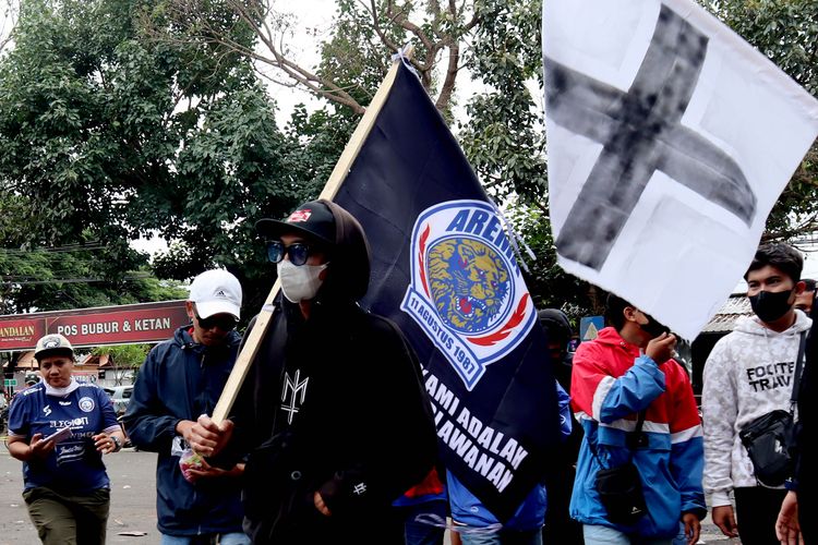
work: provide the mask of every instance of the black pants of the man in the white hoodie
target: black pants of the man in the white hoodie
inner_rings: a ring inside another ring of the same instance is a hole
[[[742,545],[779,545],[775,519],[786,491],[754,486],[735,489],[735,517]]]

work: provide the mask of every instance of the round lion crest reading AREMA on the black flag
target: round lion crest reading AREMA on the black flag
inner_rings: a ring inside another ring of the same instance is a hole
[[[536,319],[514,250],[494,208],[482,201],[426,208],[411,242],[411,281],[400,308],[471,390]]]

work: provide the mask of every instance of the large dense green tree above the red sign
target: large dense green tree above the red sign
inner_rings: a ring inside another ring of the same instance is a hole
[[[238,43],[254,39],[231,13],[213,17]],[[153,232],[179,250],[157,259],[163,278],[220,265],[250,293],[268,288],[253,225],[298,201],[282,162],[292,144],[248,59],[148,39],[146,21],[177,31],[160,0],[23,4],[0,59],[0,192],[21,219],[0,231],[9,308],[153,296],[156,283],[135,281],[146,256],[129,245]],[[55,270],[49,249],[68,246],[77,253]],[[55,283],[64,278],[101,282]]]

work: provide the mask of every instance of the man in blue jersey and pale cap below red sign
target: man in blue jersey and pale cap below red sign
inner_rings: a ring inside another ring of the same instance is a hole
[[[43,337],[34,358],[43,380],[17,395],[7,444],[23,461],[28,514],[45,544],[103,545],[110,506],[103,455],[121,448],[122,429],[108,395],[72,376],[65,337]]]

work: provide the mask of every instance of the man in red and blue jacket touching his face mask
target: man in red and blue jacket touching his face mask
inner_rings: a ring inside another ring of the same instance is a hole
[[[671,355],[667,329],[611,294],[605,327],[574,355],[572,408],[585,438],[577,462],[570,514],[584,524],[585,541],[650,538],[673,543],[684,524],[686,541],[698,541],[707,514],[701,487],[701,421],[687,372]],[[628,448],[627,437],[645,411],[647,443]],[[633,460],[639,471],[647,514],[634,525],[610,522],[596,488],[597,473]],[[665,541],[666,540],[666,541]]]

